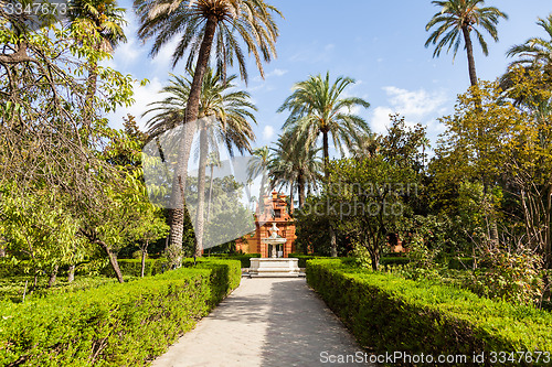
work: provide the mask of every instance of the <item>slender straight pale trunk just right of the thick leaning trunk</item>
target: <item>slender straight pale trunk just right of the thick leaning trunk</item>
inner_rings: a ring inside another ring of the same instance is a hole
[[[203,227],[205,225],[205,168],[209,151],[205,122],[201,122],[200,166],[198,169],[198,209],[195,212],[195,257],[203,255]]]

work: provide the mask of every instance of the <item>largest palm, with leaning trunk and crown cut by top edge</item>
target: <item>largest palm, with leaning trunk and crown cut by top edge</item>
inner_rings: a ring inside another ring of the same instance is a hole
[[[238,40],[242,40],[250,54],[254,55],[262,76],[264,76],[262,61],[268,62],[272,57],[276,57],[275,43],[278,28],[273,14],[282,14],[264,0],[135,0],[134,8],[140,20],[138,36],[142,41],[156,39],[150,52],[152,56],[174,36],[181,35],[172,54],[173,66],[185,53],[188,53],[188,67],[191,67],[195,60],[195,73],[185,105],[184,122],[198,119],[201,85],[213,45],[219,69],[225,72],[226,65],[232,65],[233,61],[237,60],[240,73],[245,80],[247,80],[245,56]],[[188,139],[181,140],[179,168],[173,180],[173,196],[178,184],[185,186],[190,145]],[[173,209],[170,246],[177,250],[182,248],[183,223],[183,207]]]

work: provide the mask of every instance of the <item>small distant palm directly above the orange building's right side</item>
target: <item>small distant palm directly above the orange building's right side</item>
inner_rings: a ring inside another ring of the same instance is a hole
[[[318,155],[320,148],[305,147],[304,142],[291,144],[290,132],[283,133],[273,148],[268,172],[272,186],[288,185],[291,208],[295,190],[299,196],[299,208],[305,204],[306,191],[315,191],[321,179],[322,162]],[[295,190],[294,190],[295,188]]]

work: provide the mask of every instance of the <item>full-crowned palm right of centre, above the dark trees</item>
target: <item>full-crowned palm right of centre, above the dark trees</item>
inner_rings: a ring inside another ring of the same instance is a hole
[[[307,80],[295,84],[294,93],[278,108],[278,112],[289,109],[289,117],[284,123],[284,132],[290,132],[296,145],[304,141],[307,149],[316,144],[318,136],[322,134],[323,171],[328,177],[329,134],[341,154],[344,148],[350,149],[355,137],[368,133],[370,128],[361,117],[351,112],[357,107],[370,107],[370,104],[359,97],[342,97],[343,90],[354,79],[338,77],[330,83],[330,73],[310,76]]]

